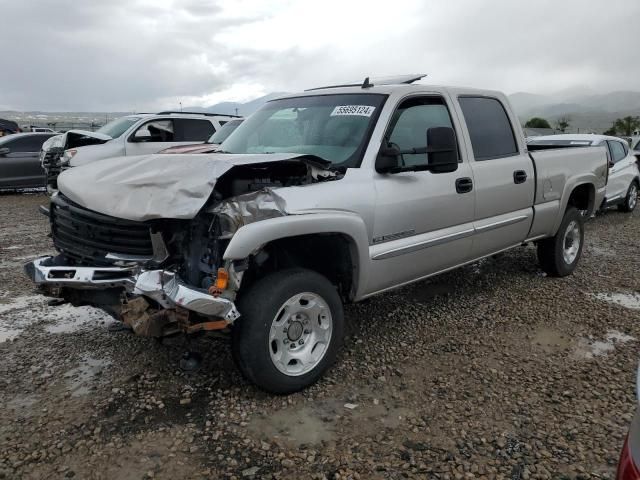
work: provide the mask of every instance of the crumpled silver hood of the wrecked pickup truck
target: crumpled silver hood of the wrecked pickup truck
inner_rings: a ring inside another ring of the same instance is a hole
[[[218,179],[234,166],[304,158],[309,156],[210,153],[110,158],[65,170],[58,177],[58,189],[78,205],[112,217],[191,219],[209,199]]]

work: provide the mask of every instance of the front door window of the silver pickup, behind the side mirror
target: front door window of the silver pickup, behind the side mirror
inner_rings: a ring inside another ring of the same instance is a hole
[[[422,148],[427,145],[427,129],[453,128],[451,115],[440,97],[415,97],[405,100],[393,114],[387,141],[400,150]],[[427,154],[404,154],[404,165],[423,165]]]

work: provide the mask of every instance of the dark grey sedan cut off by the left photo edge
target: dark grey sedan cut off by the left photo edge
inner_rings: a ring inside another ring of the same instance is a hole
[[[54,133],[17,133],[0,138],[0,189],[44,187],[40,149]]]

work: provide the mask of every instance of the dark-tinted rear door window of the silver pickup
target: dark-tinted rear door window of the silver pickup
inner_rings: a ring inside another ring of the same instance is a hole
[[[511,122],[499,100],[489,97],[460,97],[459,103],[476,160],[518,154]]]

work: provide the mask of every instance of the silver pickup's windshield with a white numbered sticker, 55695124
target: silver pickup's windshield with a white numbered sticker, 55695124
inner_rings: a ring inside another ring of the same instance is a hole
[[[266,103],[225,140],[227,153],[316,155],[357,167],[386,95],[337,94]]]

